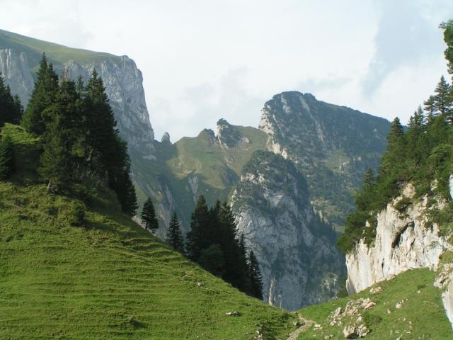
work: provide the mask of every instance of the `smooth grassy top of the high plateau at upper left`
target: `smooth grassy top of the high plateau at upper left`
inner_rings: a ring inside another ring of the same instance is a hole
[[[33,69],[38,66],[42,52],[56,66],[68,60],[75,62],[96,62],[101,60],[118,60],[119,57],[108,53],[93,52],[58,45],[35,38],[25,37],[24,35],[0,30],[0,48],[13,48],[18,52],[26,52],[30,67]]]

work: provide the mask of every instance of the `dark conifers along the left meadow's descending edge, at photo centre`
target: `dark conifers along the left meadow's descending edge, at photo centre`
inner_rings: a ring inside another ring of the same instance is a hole
[[[159,228],[151,198],[144,203],[142,220],[151,232]],[[243,237],[237,234],[233,212],[227,203],[220,204],[217,200],[214,206],[208,208],[201,195],[192,213],[186,244],[176,212],[171,217],[166,242],[215,276],[248,295],[263,299],[258,260],[253,251],[247,254]]]

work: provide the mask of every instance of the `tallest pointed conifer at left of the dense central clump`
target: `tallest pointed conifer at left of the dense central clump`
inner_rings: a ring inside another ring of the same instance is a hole
[[[190,230],[187,234],[187,254],[193,261],[200,259],[203,249],[210,245],[207,239],[207,228],[210,226],[210,213],[206,205],[205,197],[200,195],[195,205],[195,210],[190,218]]]

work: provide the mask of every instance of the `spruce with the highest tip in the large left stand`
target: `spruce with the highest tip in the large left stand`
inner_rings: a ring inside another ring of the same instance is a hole
[[[23,113],[22,125],[28,131],[42,135],[46,130],[46,121],[42,116],[46,108],[55,103],[58,91],[58,76],[52,64],[47,63],[45,55],[42,55],[40,68],[37,72],[38,80],[28,101],[28,106]]]

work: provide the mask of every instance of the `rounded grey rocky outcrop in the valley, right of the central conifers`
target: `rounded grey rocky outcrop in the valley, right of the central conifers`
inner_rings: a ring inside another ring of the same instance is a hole
[[[238,231],[260,263],[265,301],[297,310],[336,294],[343,256],[331,227],[314,214],[292,162],[256,152],[232,202]]]

